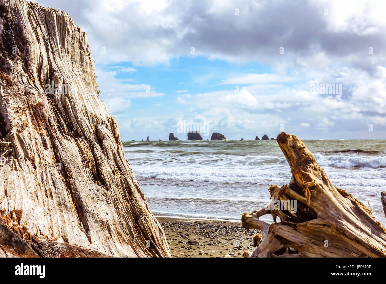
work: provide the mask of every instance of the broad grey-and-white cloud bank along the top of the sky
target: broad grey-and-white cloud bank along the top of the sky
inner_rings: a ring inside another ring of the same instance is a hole
[[[384,62],[386,54],[384,1],[356,1],[355,5],[349,0],[39,3],[69,12],[88,32],[98,62],[161,63],[190,56],[190,48],[195,47],[195,56],[211,59],[270,64],[284,60],[301,66],[305,58],[328,54],[332,60],[350,59],[352,64],[371,68],[365,58],[368,47],[374,48],[378,61]],[[101,53],[102,47],[106,54]],[[280,47],[284,54],[279,54]]]

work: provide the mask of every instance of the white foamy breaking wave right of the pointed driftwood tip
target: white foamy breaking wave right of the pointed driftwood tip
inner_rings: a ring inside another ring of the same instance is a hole
[[[315,153],[315,159],[321,166],[337,168],[384,168],[386,156],[368,155],[323,155]]]

